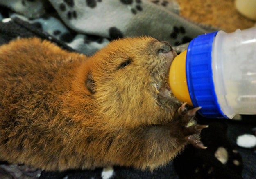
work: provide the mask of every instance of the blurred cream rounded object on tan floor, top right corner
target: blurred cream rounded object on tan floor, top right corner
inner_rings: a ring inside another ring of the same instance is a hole
[[[239,13],[256,20],[256,0],[235,0],[235,6]]]

